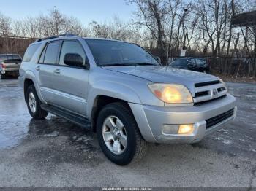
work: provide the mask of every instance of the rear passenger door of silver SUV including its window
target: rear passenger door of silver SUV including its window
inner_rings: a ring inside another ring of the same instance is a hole
[[[60,41],[48,42],[36,66],[40,92],[48,103],[53,102],[53,74],[59,63],[60,44]]]

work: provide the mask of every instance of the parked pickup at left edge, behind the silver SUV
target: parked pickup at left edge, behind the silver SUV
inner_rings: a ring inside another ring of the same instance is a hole
[[[0,75],[4,79],[7,75],[18,77],[21,57],[14,54],[0,54]]]

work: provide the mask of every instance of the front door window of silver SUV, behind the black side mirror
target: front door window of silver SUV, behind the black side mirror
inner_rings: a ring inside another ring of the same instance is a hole
[[[59,60],[60,65],[66,65],[64,63],[64,56],[67,53],[76,53],[79,54],[83,58],[83,63],[86,61],[86,55],[83,52],[83,47],[76,41],[64,41],[61,48],[61,57]]]

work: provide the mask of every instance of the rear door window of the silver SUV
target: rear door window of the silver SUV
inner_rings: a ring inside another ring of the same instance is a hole
[[[42,52],[39,63],[57,64],[59,57],[59,44],[60,42],[48,43],[45,50]]]

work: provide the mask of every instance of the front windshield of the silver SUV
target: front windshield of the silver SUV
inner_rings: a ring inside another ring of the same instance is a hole
[[[152,55],[136,44],[101,39],[86,39],[86,42],[98,66],[159,66]]]

